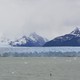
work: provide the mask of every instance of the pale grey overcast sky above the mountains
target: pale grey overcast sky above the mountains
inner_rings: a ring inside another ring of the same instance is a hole
[[[80,26],[80,0],[0,0],[0,36],[36,32],[48,39]]]

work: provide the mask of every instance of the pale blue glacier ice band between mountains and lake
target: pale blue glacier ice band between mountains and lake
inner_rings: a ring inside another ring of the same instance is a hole
[[[14,57],[75,57],[80,47],[1,47],[1,56]]]

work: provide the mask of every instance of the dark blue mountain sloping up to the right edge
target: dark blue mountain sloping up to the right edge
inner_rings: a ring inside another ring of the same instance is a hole
[[[71,33],[59,36],[44,44],[44,46],[80,46],[80,28]]]

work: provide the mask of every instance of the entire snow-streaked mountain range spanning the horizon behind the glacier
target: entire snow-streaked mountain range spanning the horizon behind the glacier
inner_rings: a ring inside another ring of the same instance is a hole
[[[11,40],[6,37],[0,38],[1,47],[51,47],[51,46],[80,46],[80,28],[75,28],[69,34],[56,37],[52,40],[31,33],[29,36],[23,35],[21,38]]]

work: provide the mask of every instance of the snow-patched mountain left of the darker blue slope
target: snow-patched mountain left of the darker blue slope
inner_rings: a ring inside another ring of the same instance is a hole
[[[11,41],[11,46],[19,46],[19,47],[31,47],[31,46],[43,46],[48,40],[37,35],[36,33],[32,33],[27,36],[23,36],[20,39],[15,41]]]

